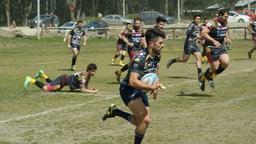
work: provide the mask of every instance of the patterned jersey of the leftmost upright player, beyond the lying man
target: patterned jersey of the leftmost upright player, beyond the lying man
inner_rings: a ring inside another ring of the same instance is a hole
[[[81,44],[81,38],[85,36],[85,32],[83,29],[74,28],[69,32],[72,35],[70,44]]]

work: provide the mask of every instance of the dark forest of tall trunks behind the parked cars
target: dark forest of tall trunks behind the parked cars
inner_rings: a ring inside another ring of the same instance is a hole
[[[224,3],[230,10],[238,0],[179,0],[180,16],[183,10],[202,10],[207,14],[206,7]],[[71,5],[74,12],[71,12]],[[178,0],[125,0],[125,13],[138,14],[142,11],[158,11],[168,16],[177,17]],[[63,24],[85,17],[96,17],[98,13],[123,14],[123,0],[40,0],[40,14],[54,13]],[[1,0],[0,25],[10,26],[12,20],[18,26],[27,26],[29,19],[37,15],[37,0]]]

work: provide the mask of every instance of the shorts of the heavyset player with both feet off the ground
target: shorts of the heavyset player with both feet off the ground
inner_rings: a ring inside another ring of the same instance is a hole
[[[205,46],[204,52],[209,63],[218,61],[221,54],[228,54],[227,50],[224,48],[224,45],[222,45],[219,49],[216,47]]]

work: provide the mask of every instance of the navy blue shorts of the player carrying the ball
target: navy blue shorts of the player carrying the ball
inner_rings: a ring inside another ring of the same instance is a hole
[[[146,107],[149,107],[147,93],[142,92],[141,90],[133,88],[131,86],[127,86],[123,82],[120,84],[119,91],[120,91],[121,98],[124,101],[124,104],[126,106],[130,101],[133,101],[134,99],[136,99],[138,97],[141,97],[144,105]]]

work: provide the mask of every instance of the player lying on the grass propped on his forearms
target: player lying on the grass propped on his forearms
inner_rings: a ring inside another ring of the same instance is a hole
[[[53,81],[48,76],[46,76],[42,70],[40,70],[36,74],[35,78],[43,77],[47,81],[47,85],[44,85],[44,83],[37,81],[36,79],[31,78],[30,76],[27,76],[24,82],[24,88],[27,88],[29,83],[34,83],[43,91],[53,92],[59,91],[64,86],[69,85],[70,90],[80,88],[82,92],[98,93],[98,89],[94,87],[88,88],[90,77],[94,75],[96,70],[97,66],[95,64],[89,64],[87,66],[86,72],[76,72],[72,75],[63,74]]]

